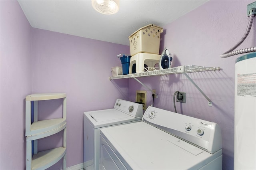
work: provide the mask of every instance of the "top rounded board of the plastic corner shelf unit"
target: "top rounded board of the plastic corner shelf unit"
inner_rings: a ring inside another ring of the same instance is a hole
[[[26,101],[53,100],[66,97],[66,93],[36,93],[26,96]]]

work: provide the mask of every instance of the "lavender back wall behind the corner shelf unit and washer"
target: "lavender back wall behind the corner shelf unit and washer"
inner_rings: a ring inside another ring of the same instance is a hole
[[[83,162],[83,112],[108,109],[117,98],[128,99],[127,79],[108,80],[110,68],[121,66],[116,57],[120,53],[129,53],[129,47],[32,28],[32,93],[67,93],[67,167]],[[39,103],[41,108],[47,105]],[[39,142],[62,142],[57,137],[44,140]],[[51,167],[58,168],[61,162]]]

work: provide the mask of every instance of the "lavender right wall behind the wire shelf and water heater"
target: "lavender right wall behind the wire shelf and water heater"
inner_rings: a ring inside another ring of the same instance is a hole
[[[223,169],[233,169],[234,159],[234,63],[241,55],[220,58],[243,36],[247,26],[246,7],[253,1],[206,2],[192,12],[164,27],[160,51],[167,47],[172,53],[173,67],[201,65],[221,67],[221,71],[189,73],[188,75],[212,100],[213,106],[184,75],[140,78],[148,87],[156,89],[159,98],[155,106],[174,111],[175,91],[186,92],[186,103],[176,103],[178,113],[216,122],[222,130]],[[256,45],[256,22],[239,47]],[[147,90],[134,80],[129,81],[130,100],[135,100],[136,90]],[[147,92],[148,105],[152,102]]]

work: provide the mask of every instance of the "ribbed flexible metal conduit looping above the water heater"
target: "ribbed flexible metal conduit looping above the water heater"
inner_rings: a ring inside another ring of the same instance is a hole
[[[248,24],[247,24],[247,28],[246,28],[246,31],[244,33],[244,36],[241,38],[241,40],[238,43],[236,43],[236,45],[234,45],[234,47],[232,47],[230,50],[228,50],[225,53],[223,53],[222,55],[220,55],[221,58],[226,58],[226,57],[230,57],[232,55],[237,55],[237,54],[242,54],[242,53],[250,53],[250,52],[256,51],[256,47],[238,49],[236,51],[233,51],[239,45],[241,45],[241,43],[244,42],[244,40],[247,38],[247,36],[248,36],[248,34],[249,34],[249,32],[252,28],[253,20],[254,20],[254,15],[250,15],[249,16],[249,21],[248,21]]]

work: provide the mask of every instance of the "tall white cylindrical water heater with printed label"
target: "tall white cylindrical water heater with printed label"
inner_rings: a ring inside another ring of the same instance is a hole
[[[235,63],[234,169],[256,170],[256,52]]]

